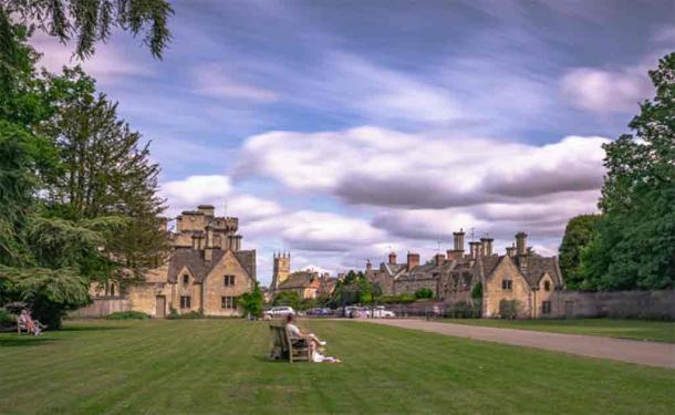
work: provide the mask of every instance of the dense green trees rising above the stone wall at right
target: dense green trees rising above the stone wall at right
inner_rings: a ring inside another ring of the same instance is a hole
[[[580,290],[675,287],[675,53],[650,71],[655,97],[604,145],[601,214],[569,221],[560,246],[565,284]]]

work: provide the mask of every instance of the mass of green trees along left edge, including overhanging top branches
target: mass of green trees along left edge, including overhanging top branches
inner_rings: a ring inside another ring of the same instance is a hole
[[[90,302],[90,282],[134,280],[162,259],[164,201],[149,144],[81,68],[39,70],[29,39],[44,29],[89,56],[129,19],[134,34],[166,29],[170,8],[149,13],[163,4],[0,4],[0,307],[25,304],[59,328],[66,311]],[[168,32],[147,33],[158,55]]]

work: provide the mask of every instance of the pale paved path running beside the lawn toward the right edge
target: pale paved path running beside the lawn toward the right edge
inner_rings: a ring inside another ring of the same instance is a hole
[[[438,323],[425,320],[380,319],[360,321],[459,338],[485,340],[488,342],[538,347],[557,352],[581,354],[584,356],[675,369],[675,344],[671,343],[641,342],[635,340],[559,334],[530,330],[482,328],[477,325]]]

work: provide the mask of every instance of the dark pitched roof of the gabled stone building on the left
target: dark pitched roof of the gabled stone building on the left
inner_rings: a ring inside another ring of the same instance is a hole
[[[169,259],[167,280],[169,282],[176,282],[178,280],[178,273],[183,268],[187,268],[196,282],[202,282],[226,252],[227,251],[222,249],[214,249],[211,260],[205,261],[204,250],[176,248],[174,252],[172,252]],[[256,251],[233,251],[232,253],[249,277],[256,279]]]

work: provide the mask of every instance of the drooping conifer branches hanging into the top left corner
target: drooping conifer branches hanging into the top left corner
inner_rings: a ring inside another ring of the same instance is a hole
[[[8,44],[2,28],[9,25],[11,17],[63,43],[74,39],[75,54],[81,59],[91,56],[96,43],[107,41],[114,29],[134,37],[143,33],[153,55],[162,58],[172,39],[167,23],[173,14],[166,0],[4,0],[0,4],[0,45]]]

